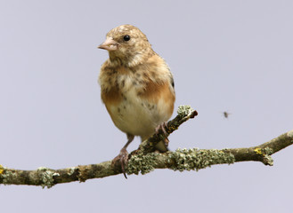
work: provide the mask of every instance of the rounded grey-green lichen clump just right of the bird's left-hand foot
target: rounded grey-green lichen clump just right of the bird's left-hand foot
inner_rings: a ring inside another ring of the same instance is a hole
[[[141,172],[144,175],[151,172],[155,169],[157,156],[156,153],[133,155],[128,161],[127,174],[138,175]]]

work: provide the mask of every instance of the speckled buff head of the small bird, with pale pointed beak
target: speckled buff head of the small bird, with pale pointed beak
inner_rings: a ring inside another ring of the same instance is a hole
[[[109,51],[111,62],[119,62],[127,67],[141,64],[154,53],[147,37],[139,28],[132,25],[121,25],[111,29],[105,42],[98,48]]]

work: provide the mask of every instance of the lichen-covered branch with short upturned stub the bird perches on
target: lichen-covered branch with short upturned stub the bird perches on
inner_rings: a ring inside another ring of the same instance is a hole
[[[178,115],[167,123],[167,134],[176,130],[183,122],[193,118],[197,112],[190,106],[180,106]],[[272,154],[293,144],[293,130],[265,144],[232,149],[177,149],[164,154],[154,153],[154,146],[162,139],[163,134],[155,134],[131,154],[129,154],[127,174],[146,174],[155,169],[200,170],[216,164],[232,164],[233,162],[256,161],[265,165],[273,165]],[[121,173],[111,161],[52,170],[40,167],[37,170],[13,170],[0,165],[0,184],[4,185],[41,185],[52,187],[72,181],[85,182],[91,178],[109,177]]]

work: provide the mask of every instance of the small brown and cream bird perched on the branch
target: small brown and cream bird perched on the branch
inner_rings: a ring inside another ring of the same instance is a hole
[[[98,48],[109,52],[98,82],[102,102],[127,142],[112,163],[118,162],[126,177],[127,146],[138,136],[144,141],[165,132],[175,104],[174,78],[166,61],[152,50],[139,28],[121,25],[111,29]],[[167,137],[156,149],[167,152]],[[127,178],[127,177],[126,177]]]

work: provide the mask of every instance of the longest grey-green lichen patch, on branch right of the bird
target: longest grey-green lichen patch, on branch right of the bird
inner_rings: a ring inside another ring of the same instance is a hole
[[[200,170],[214,164],[235,162],[233,154],[224,153],[221,150],[199,150],[198,148],[177,149],[169,155],[169,161],[174,161],[171,170]],[[170,162],[171,163],[171,162]]]

